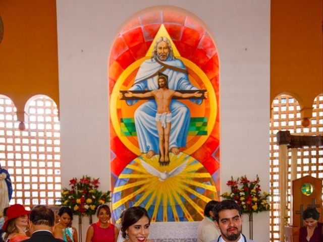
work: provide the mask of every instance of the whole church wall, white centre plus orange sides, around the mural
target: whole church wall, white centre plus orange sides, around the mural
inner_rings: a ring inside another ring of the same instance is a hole
[[[312,103],[323,89],[322,2],[291,1],[163,2],[199,17],[218,47],[221,192],[231,175],[256,173],[268,191],[269,100],[289,91]],[[48,95],[60,107],[63,187],[71,177],[88,174],[100,177],[102,190],[109,189],[109,52],[127,19],[155,5],[160,3],[0,2],[5,26],[0,94],[12,98],[18,111],[36,94]],[[267,240],[268,216],[254,218],[259,241]]]

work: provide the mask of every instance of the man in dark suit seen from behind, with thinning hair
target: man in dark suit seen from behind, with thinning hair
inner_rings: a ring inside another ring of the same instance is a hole
[[[44,206],[37,205],[29,215],[31,237],[23,242],[64,242],[62,239],[55,238],[52,235],[55,216],[53,211]]]

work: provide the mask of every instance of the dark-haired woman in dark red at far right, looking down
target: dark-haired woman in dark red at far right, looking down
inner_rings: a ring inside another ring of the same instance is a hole
[[[318,222],[319,212],[315,208],[305,209],[303,214],[305,226],[299,229],[299,242],[322,242],[322,223]]]

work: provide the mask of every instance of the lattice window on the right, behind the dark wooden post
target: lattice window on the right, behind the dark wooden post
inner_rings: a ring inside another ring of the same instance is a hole
[[[313,118],[309,127],[301,126],[300,106],[295,98],[281,95],[273,101],[273,111],[270,131],[270,183],[271,183],[271,241],[280,241],[279,238],[279,147],[276,145],[276,134],[281,130],[288,130],[291,134],[322,135],[323,134],[323,95],[315,98],[313,104]],[[304,175],[323,178],[323,150],[318,147],[303,147],[297,151],[297,178]],[[288,216],[290,216],[291,202],[291,151],[288,152]]]

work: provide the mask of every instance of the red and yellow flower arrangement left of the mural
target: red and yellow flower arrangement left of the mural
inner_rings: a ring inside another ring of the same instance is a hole
[[[110,191],[98,191],[99,178],[83,175],[81,179],[70,180],[70,189],[63,188],[62,205],[72,209],[73,214],[92,215],[99,205],[111,202]]]

